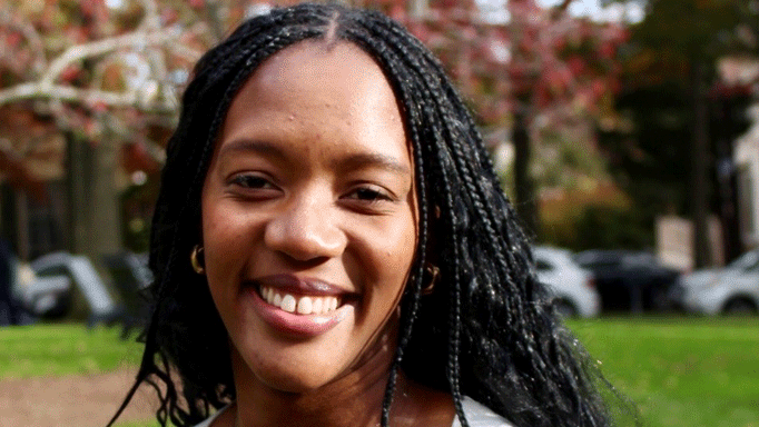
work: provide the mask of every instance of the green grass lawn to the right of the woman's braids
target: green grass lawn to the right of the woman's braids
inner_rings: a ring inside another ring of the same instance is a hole
[[[759,319],[603,318],[569,327],[644,426],[759,426]]]

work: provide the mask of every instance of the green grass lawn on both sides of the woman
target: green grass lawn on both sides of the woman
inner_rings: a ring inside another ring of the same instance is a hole
[[[650,427],[759,427],[759,318],[572,320]],[[136,366],[140,346],[118,328],[36,325],[0,329],[0,380]],[[154,427],[155,421],[119,427]]]

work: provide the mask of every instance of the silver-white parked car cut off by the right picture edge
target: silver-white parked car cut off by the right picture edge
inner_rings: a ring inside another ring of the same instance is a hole
[[[759,314],[759,249],[743,254],[724,268],[683,275],[672,294],[692,312]]]

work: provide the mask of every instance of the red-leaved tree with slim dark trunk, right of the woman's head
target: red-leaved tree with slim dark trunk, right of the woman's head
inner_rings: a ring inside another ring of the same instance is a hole
[[[625,29],[571,17],[571,0],[545,9],[511,0],[507,21],[487,21],[473,1],[432,1],[426,13],[397,11],[437,53],[497,146],[511,133],[516,207],[539,229],[534,179],[572,188],[604,176],[594,123],[613,110],[617,47]],[[595,155],[594,155],[595,153]]]

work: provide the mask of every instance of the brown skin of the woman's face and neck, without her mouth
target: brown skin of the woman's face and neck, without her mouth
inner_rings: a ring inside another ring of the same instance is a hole
[[[237,394],[214,427],[378,426],[418,226],[411,147],[379,67],[325,41],[265,61],[229,109],[201,206]],[[339,320],[313,336],[278,329],[266,314],[279,308],[250,290],[270,275],[331,284]],[[392,426],[453,417],[448,394],[400,373]]]

